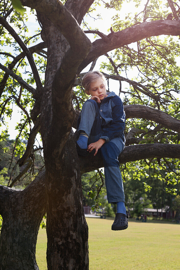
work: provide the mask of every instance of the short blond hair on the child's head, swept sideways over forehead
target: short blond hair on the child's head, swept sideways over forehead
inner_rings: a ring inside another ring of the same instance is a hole
[[[90,84],[92,82],[96,82],[99,77],[103,79],[104,83],[106,83],[106,77],[100,71],[89,71],[84,75],[81,85],[84,87],[86,94],[89,92]]]

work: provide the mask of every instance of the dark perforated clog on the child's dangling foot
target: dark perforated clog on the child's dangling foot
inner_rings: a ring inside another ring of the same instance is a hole
[[[120,230],[127,229],[128,220],[129,220],[129,215],[128,215],[127,211],[126,211],[126,215],[124,215],[122,213],[117,213],[115,216],[115,220],[113,222],[113,225],[111,227],[111,230],[120,231]]]

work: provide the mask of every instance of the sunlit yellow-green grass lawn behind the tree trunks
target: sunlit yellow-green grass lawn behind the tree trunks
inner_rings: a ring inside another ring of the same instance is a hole
[[[111,231],[113,220],[86,218],[89,227],[89,269],[180,270],[180,225],[129,221],[124,231]],[[36,260],[46,266],[46,230],[39,230]]]

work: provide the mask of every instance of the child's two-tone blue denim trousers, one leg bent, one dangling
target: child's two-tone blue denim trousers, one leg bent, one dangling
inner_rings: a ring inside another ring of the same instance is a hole
[[[77,120],[78,133],[80,130],[89,136],[88,145],[98,141],[101,136],[101,117],[95,100],[87,100],[82,107]],[[123,180],[119,168],[118,156],[125,144],[120,137],[106,142],[100,148],[104,163],[104,176],[108,203],[125,202]]]

